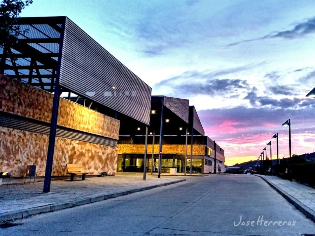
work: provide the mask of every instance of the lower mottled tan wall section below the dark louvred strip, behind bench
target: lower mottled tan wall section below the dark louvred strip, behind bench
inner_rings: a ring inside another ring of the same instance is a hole
[[[46,134],[0,127],[0,171],[24,177],[27,165],[36,165],[36,176],[44,176],[48,151]],[[56,137],[53,176],[67,175],[67,163],[82,163],[89,174],[116,174],[117,147]]]

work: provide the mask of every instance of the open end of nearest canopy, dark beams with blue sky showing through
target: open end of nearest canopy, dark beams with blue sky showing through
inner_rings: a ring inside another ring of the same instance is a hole
[[[25,35],[12,47],[0,47],[0,74],[54,92],[64,17],[20,18]]]

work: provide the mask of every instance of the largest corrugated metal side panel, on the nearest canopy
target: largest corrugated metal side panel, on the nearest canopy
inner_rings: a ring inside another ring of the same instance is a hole
[[[150,123],[151,87],[68,18],[59,84],[142,123]]]

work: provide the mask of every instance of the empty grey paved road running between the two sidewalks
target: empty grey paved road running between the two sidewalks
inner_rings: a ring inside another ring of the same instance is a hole
[[[315,224],[253,175],[179,184],[36,215],[0,235],[302,235]]]

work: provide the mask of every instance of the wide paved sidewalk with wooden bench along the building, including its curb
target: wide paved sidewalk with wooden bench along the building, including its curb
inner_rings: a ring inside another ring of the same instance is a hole
[[[185,177],[117,174],[51,181],[50,192],[43,193],[43,182],[0,186],[0,222],[21,219],[30,215],[56,211],[134,192],[185,181]]]

